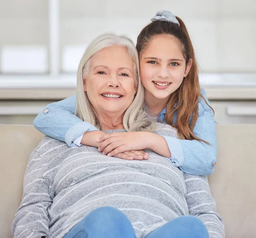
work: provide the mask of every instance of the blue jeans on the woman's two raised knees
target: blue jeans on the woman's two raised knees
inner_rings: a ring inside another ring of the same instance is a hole
[[[136,238],[136,235],[124,213],[113,207],[100,207],[76,224],[64,238]],[[146,238],[209,238],[209,235],[198,218],[180,216]]]

